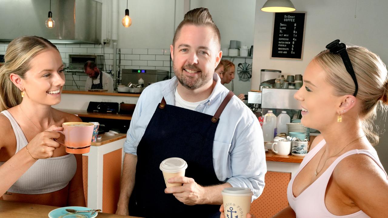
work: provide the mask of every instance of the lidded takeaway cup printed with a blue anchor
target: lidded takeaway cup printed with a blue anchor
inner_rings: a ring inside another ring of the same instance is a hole
[[[249,188],[230,187],[221,192],[225,217],[246,217],[251,209],[253,192]]]

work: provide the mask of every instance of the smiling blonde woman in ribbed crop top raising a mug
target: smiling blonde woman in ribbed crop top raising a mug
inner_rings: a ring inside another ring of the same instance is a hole
[[[59,51],[37,36],[16,38],[0,67],[0,197],[51,206],[85,206],[82,156],[53,138],[81,121],[52,108],[65,83]],[[23,97],[22,97],[23,96]]]

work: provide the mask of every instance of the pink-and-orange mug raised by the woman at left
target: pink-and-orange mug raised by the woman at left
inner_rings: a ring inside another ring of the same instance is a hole
[[[62,123],[63,131],[58,131],[65,136],[64,142],[59,144],[66,147],[69,154],[86,154],[90,151],[93,137],[94,124],[83,122]]]

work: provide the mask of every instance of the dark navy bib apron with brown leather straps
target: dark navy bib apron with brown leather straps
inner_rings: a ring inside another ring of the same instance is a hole
[[[233,92],[225,97],[214,116],[159,103],[137,147],[135,187],[130,199],[130,215],[140,217],[220,217],[220,205],[185,205],[166,185],[159,164],[169,157],[187,162],[185,176],[202,186],[220,182],[213,166],[215,131]]]

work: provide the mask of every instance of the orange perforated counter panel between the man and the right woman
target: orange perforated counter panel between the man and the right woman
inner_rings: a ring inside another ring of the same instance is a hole
[[[291,173],[268,171],[265,174],[263,193],[251,204],[251,213],[256,218],[268,218],[288,206],[287,186]]]

